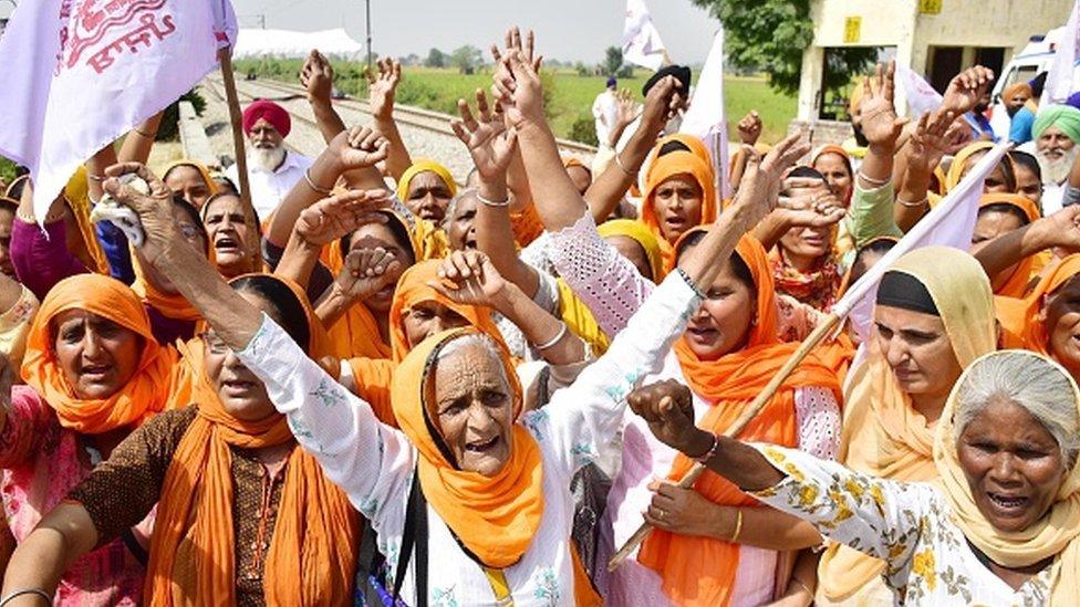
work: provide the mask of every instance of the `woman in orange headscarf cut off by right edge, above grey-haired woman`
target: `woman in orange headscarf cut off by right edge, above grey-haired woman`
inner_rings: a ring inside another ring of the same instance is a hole
[[[1055,261],[1024,299],[997,297],[1004,346],[1049,356],[1080,377],[1080,254]]]

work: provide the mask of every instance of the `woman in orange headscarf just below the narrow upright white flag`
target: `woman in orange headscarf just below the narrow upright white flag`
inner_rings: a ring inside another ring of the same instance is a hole
[[[716,221],[714,169],[696,137],[664,137],[651,157],[641,222],[656,237],[664,265],[671,266],[679,237],[695,226]]]

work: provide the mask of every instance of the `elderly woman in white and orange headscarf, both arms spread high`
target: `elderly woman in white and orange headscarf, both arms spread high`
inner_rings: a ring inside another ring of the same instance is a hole
[[[608,354],[546,408],[519,418],[521,393],[505,352],[484,335],[456,329],[419,344],[395,374],[392,406],[401,431],[380,423],[366,402],[237,296],[206,261],[180,250],[175,228],[152,198],[116,180],[108,188],[139,213],[147,232],[143,253],[176,276],[217,336],[266,384],[298,441],[372,521],[381,552],[392,563],[407,559],[401,588],[407,603],[564,605],[590,592],[570,547],[573,473],[617,449],[624,397],[682,333],[700,301],[694,285],[712,283],[719,271],[713,260],[728,259],[739,237],[768,212],[779,172],[803,151],[791,142],[760,167],[752,163],[740,198],[683,270],[657,287]],[[162,187],[143,167],[113,167],[111,175],[132,170],[155,190]],[[415,534],[413,551],[403,547],[406,504],[418,494],[427,503],[427,533]],[[427,554],[438,554],[438,567]]]

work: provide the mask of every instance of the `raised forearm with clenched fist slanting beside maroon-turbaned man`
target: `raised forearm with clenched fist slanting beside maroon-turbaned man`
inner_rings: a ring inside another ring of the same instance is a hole
[[[354,126],[339,133],[308,171],[311,184],[308,179],[301,179],[285,195],[273,213],[266,239],[284,248],[300,213],[332,190],[342,174],[371,169],[375,163],[385,159],[388,151],[390,144],[386,139],[371,128]]]

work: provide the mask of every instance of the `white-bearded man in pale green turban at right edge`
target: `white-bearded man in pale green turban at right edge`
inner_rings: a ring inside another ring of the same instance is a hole
[[[1072,165],[1080,155],[1080,109],[1069,105],[1051,105],[1039,111],[1031,127],[1036,158],[1042,169],[1043,216],[1063,206],[1080,202],[1080,189],[1068,184]],[[1078,184],[1080,185],[1080,184]]]

